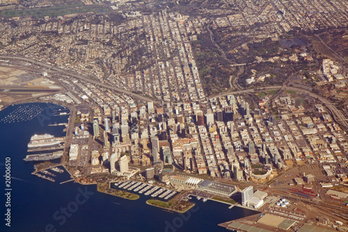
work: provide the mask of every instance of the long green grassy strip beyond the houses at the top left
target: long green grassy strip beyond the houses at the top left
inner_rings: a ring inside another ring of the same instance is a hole
[[[88,12],[94,12],[94,13],[103,13],[103,12],[109,12],[110,9],[107,8],[104,5],[84,5],[84,3],[77,3],[77,4],[70,4],[70,5],[63,5],[63,6],[49,6],[49,7],[42,7],[42,8],[30,8],[30,9],[24,9],[24,10],[3,10],[1,11],[0,15],[3,17],[19,17],[19,16],[26,16],[26,15],[32,15],[35,18],[40,17],[57,17],[57,16],[63,16],[63,15],[70,15],[70,14],[78,14],[78,13],[88,13]]]

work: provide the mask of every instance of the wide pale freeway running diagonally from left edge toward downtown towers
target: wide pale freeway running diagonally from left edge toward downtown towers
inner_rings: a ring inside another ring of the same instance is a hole
[[[139,95],[139,94],[136,94],[136,93],[132,93],[130,91],[126,91],[125,89],[122,89],[122,88],[118,88],[118,87],[115,87],[115,86],[111,86],[109,84],[104,84],[104,83],[101,83],[101,82],[94,81],[92,79],[88,79],[88,78],[84,77],[83,75],[77,74],[76,72],[71,72],[69,70],[64,70],[63,68],[57,68],[57,67],[54,67],[52,65],[48,65],[47,63],[42,63],[40,61],[35,61],[33,59],[29,59],[29,58],[26,58],[26,57],[0,56],[0,59],[15,59],[15,60],[19,60],[19,61],[27,61],[27,62],[33,63],[35,65],[39,65],[39,66],[42,66],[42,67],[45,67],[45,68],[49,68],[49,69],[54,70],[56,72],[63,72],[64,75],[70,75],[71,77],[74,77],[76,79],[80,79],[83,82],[89,82],[91,84],[96,84],[96,85],[102,86],[104,88],[109,88],[109,89],[112,89],[113,91],[116,91],[118,93],[125,93],[127,95],[132,96],[133,98],[136,98],[136,99],[139,99],[139,100],[143,100],[145,102],[157,102],[157,103],[159,102],[159,100],[153,100],[152,98],[146,98],[146,97],[144,97],[142,95]]]

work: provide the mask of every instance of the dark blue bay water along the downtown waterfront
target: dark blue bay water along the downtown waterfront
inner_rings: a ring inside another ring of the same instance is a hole
[[[30,112],[24,106],[36,110]],[[3,217],[0,231],[227,231],[217,224],[255,213],[238,207],[228,209],[227,204],[215,201],[203,203],[194,197],[192,201],[196,206],[188,212],[166,212],[148,206],[145,201],[149,197],[144,195],[139,200],[129,201],[97,192],[95,185],[59,184],[70,179],[66,171],[56,173],[55,183],[31,175],[35,162],[23,160],[30,137],[45,133],[64,136],[64,127],[48,126],[49,123],[68,122],[68,116],[54,116],[56,111],[53,110],[60,108],[58,105],[29,103],[0,111],[0,215]],[[13,112],[21,116],[13,123],[5,123],[13,118],[9,117]],[[10,207],[6,207],[6,183],[3,178],[6,157],[10,157],[13,177],[10,182]],[[10,208],[10,226],[6,226],[7,208]]]

